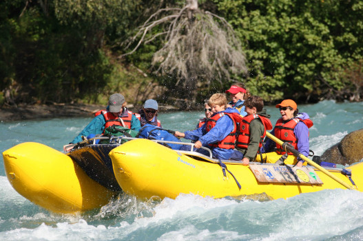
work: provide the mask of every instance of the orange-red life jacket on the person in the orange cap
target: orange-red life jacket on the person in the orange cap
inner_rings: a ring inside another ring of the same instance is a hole
[[[299,119],[299,118],[293,118],[290,119],[289,122],[284,123],[282,121],[282,118],[278,119],[275,126],[275,137],[280,139],[281,141],[288,142],[295,148],[295,150],[298,150],[298,141],[295,137],[295,134],[293,134],[293,129],[299,122],[304,122],[304,124],[307,125],[308,128],[311,128],[313,126],[313,122],[311,119]],[[276,152],[278,154],[285,154],[286,151],[282,149],[282,146],[279,144],[276,144]],[[287,154],[293,154],[292,152],[287,152]]]

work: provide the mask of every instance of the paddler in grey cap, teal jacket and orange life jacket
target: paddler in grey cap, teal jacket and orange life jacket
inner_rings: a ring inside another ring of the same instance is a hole
[[[110,96],[108,106],[104,111],[98,111],[90,122],[70,144],[82,141],[82,137],[87,137],[90,134],[102,134],[105,128],[113,124],[125,126],[132,130],[140,130],[140,121],[128,111],[125,102],[125,97],[119,93]]]

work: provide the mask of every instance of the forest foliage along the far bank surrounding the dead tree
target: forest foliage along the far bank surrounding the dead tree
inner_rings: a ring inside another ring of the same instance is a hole
[[[0,104],[105,103],[121,92],[140,104],[148,97],[177,104],[176,81],[155,75],[153,54],[163,38],[134,54],[125,41],[168,0],[3,0],[0,2]],[[363,1],[212,0],[199,8],[225,18],[247,58],[234,76],[267,102],[293,98],[361,101]],[[151,34],[163,32],[163,27]],[[133,47],[133,46],[131,46]],[[201,81],[201,102],[230,80]]]

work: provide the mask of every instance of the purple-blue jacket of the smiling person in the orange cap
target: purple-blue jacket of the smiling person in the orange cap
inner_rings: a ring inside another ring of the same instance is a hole
[[[298,113],[296,118],[299,119],[309,119],[309,115],[307,113]],[[271,134],[274,135],[275,128],[271,130]],[[305,157],[309,156],[309,128],[304,122],[298,122],[295,128],[293,129],[293,134],[298,140],[298,151],[303,154]],[[266,138],[266,143],[263,146],[262,152],[273,152],[273,148],[275,148],[276,143],[269,138]],[[299,161],[303,161],[302,159],[298,159]]]

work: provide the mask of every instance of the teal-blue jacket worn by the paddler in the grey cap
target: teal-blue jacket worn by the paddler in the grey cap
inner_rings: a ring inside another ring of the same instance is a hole
[[[108,106],[107,106],[107,110],[108,110]],[[127,111],[126,108],[123,111],[123,113],[125,111]],[[77,135],[76,138],[74,138],[73,141],[70,142],[70,144],[82,141],[82,136],[87,137],[90,134],[94,134],[94,135],[102,134],[103,130],[105,129],[105,124],[106,124],[105,117],[103,117],[103,115],[97,115],[96,117],[94,117],[94,119],[92,119],[90,124],[88,124],[81,131],[81,133],[79,133],[79,135]],[[141,128],[140,121],[135,117],[135,115],[132,115],[131,129],[138,131],[138,130],[140,130],[140,128]]]

